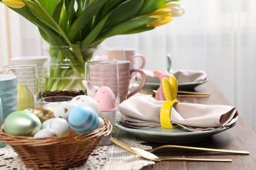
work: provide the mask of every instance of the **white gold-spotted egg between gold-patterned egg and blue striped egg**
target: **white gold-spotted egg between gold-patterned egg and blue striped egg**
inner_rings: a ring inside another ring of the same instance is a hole
[[[55,118],[64,118],[68,120],[68,114],[70,113],[70,110],[75,106],[77,106],[77,103],[72,103],[69,101],[58,103],[58,105],[56,105],[53,109],[53,115]]]

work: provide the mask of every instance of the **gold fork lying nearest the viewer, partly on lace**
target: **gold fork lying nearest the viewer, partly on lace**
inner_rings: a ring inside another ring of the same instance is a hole
[[[143,158],[146,158],[152,161],[167,161],[167,160],[170,160],[170,161],[232,161],[230,159],[206,159],[206,158],[159,158],[158,156],[150,152],[147,152],[146,150],[130,147],[127,144],[122,143],[121,141],[118,141],[114,137],[110,137],[110,141],[117,144],[121,148],[128,150],[129,152],[133,152],[134,154],[137,154],[139,156],[142,156]]]

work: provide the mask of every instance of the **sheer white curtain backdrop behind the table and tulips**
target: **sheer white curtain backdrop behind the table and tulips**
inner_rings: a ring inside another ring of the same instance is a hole
[[[161,70],[170,53],[173,69],[202,69],[256,131],[256,1],[182,0],[185,15],[137,35],[116,36],[108,47],[136,48],[145,69]],[[0,5],[0,66],[18,56],[46,55],[37,27]]]

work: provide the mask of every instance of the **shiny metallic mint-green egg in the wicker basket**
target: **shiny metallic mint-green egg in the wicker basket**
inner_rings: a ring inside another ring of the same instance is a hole
[[[28,111],[12,112],[5,119],[5,133],[15,136],[33,137],[41,129],[40,119]]]

